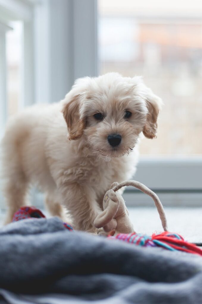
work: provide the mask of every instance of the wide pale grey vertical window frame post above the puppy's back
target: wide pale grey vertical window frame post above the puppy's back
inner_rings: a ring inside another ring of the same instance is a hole
[[[55,102],[76,78],[97,76],[97,2],[41,0],[34,13],[35,99]]]

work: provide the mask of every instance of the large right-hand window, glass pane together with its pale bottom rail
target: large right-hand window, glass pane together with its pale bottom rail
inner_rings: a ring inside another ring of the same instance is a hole
[[[202,4],[98,0],[98,11],[100,73],[143,75],[164,102],[157,139],[141,141],[135,178],[169,202],[190,195],[201,204]]]

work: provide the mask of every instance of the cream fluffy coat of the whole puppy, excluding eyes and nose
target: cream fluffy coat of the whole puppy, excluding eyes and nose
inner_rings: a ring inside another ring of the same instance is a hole
[[[52,215],[71,222],[67,209],[75,229],[96,232],[93,221],[105,192],[112,182],[132,178],[140,133],[155,137],[160,107],[161,99],[140,77],[108,73],[78,79],[61,102],[10,119],[1,143],[6,223],[27,204],[32,184],[46,193]],[[128,119],[126,111],[132,113]],[[109,144],[110,134],[121,135],[118,146]]]

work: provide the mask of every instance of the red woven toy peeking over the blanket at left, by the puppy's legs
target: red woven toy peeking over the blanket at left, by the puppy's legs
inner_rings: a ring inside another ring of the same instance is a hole
[[[45,218],[43,212],[35,207],[21,207],[13,216],[12,222],[17,222],[21,219],[40,219]],[[73,227],[68,223],[63,223],[66,229],[73,231]]]

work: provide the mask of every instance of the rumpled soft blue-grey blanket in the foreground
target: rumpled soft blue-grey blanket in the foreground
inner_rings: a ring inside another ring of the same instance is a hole
[[[0,244],[9,303],[202,303],[196,255],[69,232],[58,218],[9,224]]]

